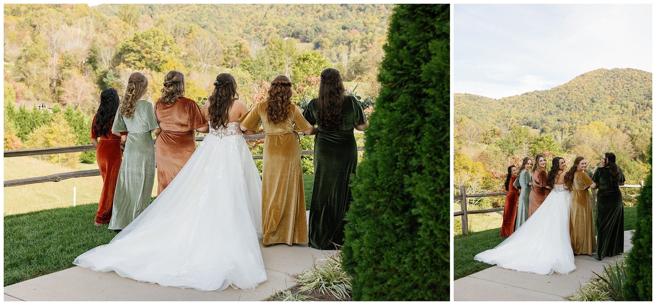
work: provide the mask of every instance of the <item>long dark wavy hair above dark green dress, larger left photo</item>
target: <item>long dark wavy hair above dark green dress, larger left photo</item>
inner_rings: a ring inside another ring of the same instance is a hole
[[[344,83],[339,71],[326,68],[321,71],[319,83],[317,124],[323,129],[334,131],[341,127]]]

